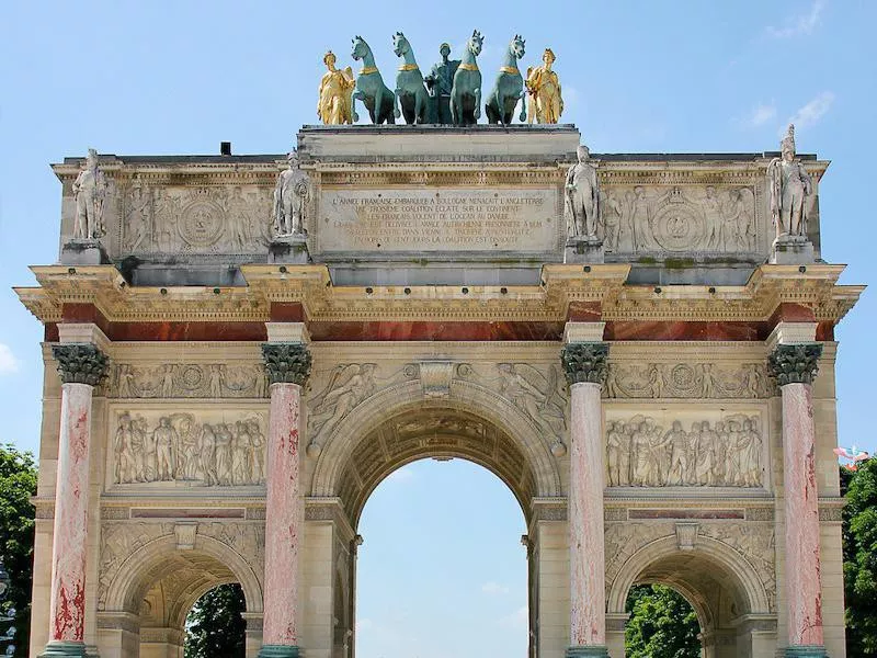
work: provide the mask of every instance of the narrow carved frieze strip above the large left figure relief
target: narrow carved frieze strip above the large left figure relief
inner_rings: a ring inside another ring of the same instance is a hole
[[[111,367],[107,397],[264,398],[267,377],[259,364],[162,363]]]

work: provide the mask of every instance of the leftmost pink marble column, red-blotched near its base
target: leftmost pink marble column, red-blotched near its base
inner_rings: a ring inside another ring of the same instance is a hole
[[[52,542],[48,644],[42,656],[86,656],[91,396],[106,355],[90,343],[53,345],[61,379],[61,421]]]

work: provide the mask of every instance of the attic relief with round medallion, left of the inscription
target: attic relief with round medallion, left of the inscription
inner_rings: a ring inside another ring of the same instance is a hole
[[[271,240],[272,190],[254,185],[150,186],[121,200],[122,253],[258,253]]]

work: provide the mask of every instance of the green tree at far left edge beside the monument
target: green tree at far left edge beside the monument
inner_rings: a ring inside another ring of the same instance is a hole
[[[27,656],[31,636],[31,585],[34,569],[36,466],[31,453],[0,445],[0,555],[10,576],[3,613],[15,609],[15,656]],[[0,633],[5,633],[3,627]]]

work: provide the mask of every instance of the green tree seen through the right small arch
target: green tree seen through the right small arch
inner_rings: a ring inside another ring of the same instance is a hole
[[[701,626],[685,598],[663,585],[641,585],[627,597],[624,632],[628,658],[699,658]]]

